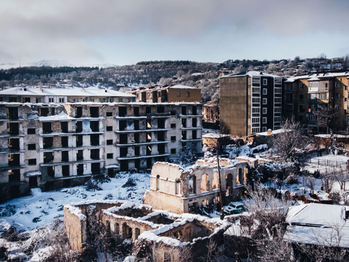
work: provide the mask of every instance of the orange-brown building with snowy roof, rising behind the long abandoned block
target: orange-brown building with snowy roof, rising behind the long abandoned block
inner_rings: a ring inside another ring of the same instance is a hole
[[[137,102],[200,102],[201,89],[174,84],[174,85],[153,85],[147,88],[140,87],[128,92],[136,96]]]

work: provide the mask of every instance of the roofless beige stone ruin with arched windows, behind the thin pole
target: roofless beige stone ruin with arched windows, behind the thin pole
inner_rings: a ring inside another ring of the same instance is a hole
[[[226,202],[244,189],[249,159],[220,160],[221,186]],[[191,167],[158,162],[152,169],[150,190],[144,203],[176,214],[219,200],[218,169],[215,160],[198,160]],[[228,204],[228,203],[226,203]]]

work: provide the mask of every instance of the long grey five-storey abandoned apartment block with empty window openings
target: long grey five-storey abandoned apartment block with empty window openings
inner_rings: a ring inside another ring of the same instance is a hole
[[[200,103],[0,102],[0,196],[201,152]]]

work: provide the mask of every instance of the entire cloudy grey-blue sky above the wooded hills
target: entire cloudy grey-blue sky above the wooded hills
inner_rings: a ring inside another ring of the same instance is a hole
[[[349,0],[0,0],[0,64],[349,52]]]

